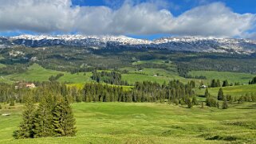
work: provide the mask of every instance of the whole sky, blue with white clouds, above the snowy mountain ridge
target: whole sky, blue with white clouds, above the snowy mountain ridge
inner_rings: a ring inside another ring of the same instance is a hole
[[[255,0],[0,0],[0,36],[256,39]]]

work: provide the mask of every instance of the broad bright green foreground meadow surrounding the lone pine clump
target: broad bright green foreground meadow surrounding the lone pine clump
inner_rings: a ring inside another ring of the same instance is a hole
[[[77,136],[15,140],[21,106],[0,113],[0,143],[255,143],[256,103],[227,110],[164,103],[74,103]],[[5,108],[6,107],[6,108]],[[246,116],[245,116],[246,115]]]

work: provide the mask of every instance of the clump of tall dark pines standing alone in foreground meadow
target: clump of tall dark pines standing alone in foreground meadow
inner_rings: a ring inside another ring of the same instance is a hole
[[[45,96],[36,107],[33,97],[26,99],[22,123],[14,138],[73,136],[77,130],[69,102],[63,96]]]

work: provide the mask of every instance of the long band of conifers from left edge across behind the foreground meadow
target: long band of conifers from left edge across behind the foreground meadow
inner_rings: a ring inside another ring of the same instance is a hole
[[[35,83],[37,88],[18,88],[14,85],[0,84],[1,103],[25,103],[28,95],[39,103],[47,95],[62,95],[73,102],[164,102],[186,103],[195,96],[195,82],[183,84],[179,80],[158,84],[149,81],[136,82],[134,87],[123,88],[108,84],[87,83],[84,88],[67,87],[57,81]]]

